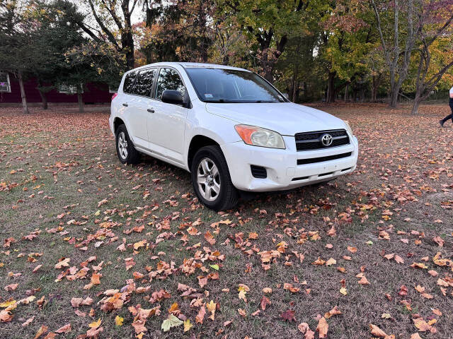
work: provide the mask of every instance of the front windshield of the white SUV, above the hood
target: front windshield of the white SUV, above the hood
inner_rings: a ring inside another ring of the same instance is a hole
[[[255,73],[236,69],[188,68],[198,97],[204,102],[285,102],[285,98]]]

